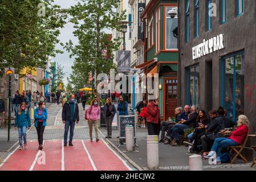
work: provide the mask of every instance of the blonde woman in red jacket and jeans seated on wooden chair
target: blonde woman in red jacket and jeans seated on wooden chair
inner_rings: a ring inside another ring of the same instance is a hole
[[[217,155],[217,164],[220,164],[221,148],[242,144],[249,130],[248,118],[245,115],[239,115],[237,126],[237,129],[231,133],[229,138],[216,138],[211,151],[205,156],[205,158],[213,158]]]

